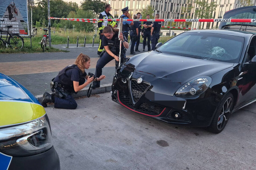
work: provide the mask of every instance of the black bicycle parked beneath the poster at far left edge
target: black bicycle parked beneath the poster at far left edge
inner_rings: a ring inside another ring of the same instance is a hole
[[[6,25],[5,26],[7,29],[7,31],[2,31],[0,29],[0,40],[2,41],[2,45],[6,46],[6,48],[8,48],[8,45],[12,48],[15,49],[22,49],[23,45],[24,45],[24,40],[21,36],[19,36],[18,34],[12,34],[9,32],[9,28],[12,28],[11,25]],[[2,38],[2,32],[6,32],[6,40],[4,40]],[[9,37],[8,37],[9,35]],[[8,38],[8,40],[7,40]]]

